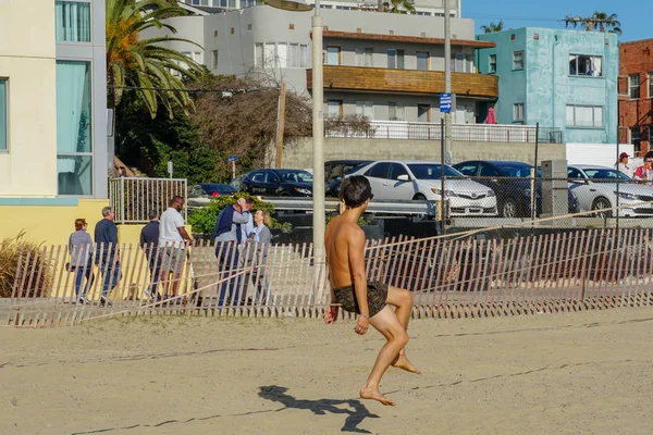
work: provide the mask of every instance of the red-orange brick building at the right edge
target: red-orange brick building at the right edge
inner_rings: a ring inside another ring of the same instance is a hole
[[[653,39],[619,44],[619,142],[653,150]]]

